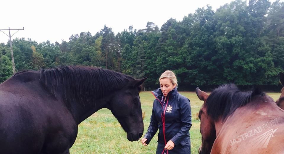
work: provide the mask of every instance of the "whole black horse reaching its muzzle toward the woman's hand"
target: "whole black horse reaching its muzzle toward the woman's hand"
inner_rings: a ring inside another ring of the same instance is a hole
[[[69,153],[78,124],[101,108],[111,110],[129,141],[138,140],[145,80],[76,66],[15,74],[0,84],[0,153]]]

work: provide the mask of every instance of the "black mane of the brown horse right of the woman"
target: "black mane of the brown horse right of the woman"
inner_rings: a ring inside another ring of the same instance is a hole
[[[214,89],[206,101],[207,114],[213,119],[226,119],[237,108],[251,102],[251,98],[256,95],[264,95],[257,88],[251,91],[241,92],[235,84],[224,84]]]

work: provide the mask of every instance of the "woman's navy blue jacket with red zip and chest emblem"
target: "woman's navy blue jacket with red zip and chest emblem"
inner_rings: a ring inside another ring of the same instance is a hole
[[[156,97],[153,103],[151,122],[144,138],[147,144],[156,134],[159,128],[158,142],[166,143],[171,140],[175,147],[178,145],[190,146],[189,129],[191,128],[190,100],[178,93],[177,88],[173,89],[166,97],[165,105],[162,108],[162,90],[152,91]],[[164,121],[163,121],[164,119]]]

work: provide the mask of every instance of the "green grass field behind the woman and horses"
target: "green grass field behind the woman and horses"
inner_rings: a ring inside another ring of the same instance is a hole
[[[199,131],[200,121],[197,113],[203,103],[196,96],[195,92],[180,92],[191,100],[192,127],[191,153],[198,153],[201,144],[201,134]],[[267,93],[275,101],[280,97],[280,93]],[[154,96],[151,92],[140,93],[142,112],[145,112],[144,134],[150,123]],[[196,119],[197,118],[197,119]],[[79,125],[77,139],[70,149],[71,154],[99,153],[99,154],[152,154],[156,153],[157,134],[148,146],[143,146],[140,141],[130,142],[126,138],[126,133],[121,128],[119,122],[112,115],[110,110],[101,109],[91,115]]]

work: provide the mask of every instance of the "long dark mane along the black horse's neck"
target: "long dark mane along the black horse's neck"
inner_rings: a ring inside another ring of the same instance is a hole
[[[41,80],[54,94],[62,85],[65,100],[90,104],[113,91],[122,89],[134,78],[122,73],[86,66],[62,66],[41,70]],[[138,89],[139,91],[141,89]]]

